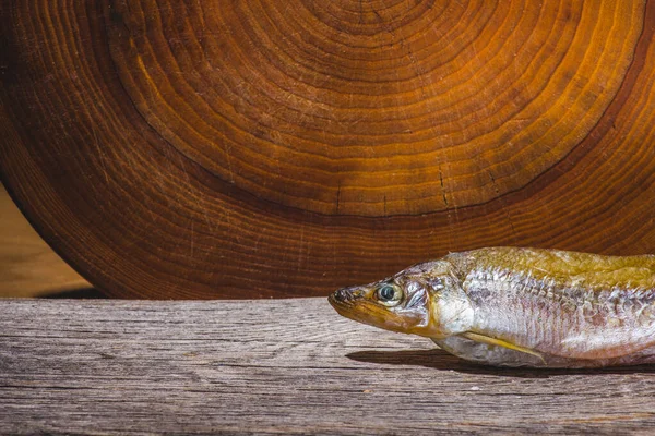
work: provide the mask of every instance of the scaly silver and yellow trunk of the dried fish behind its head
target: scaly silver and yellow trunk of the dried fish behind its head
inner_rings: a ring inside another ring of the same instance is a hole
[[[467,360],[505,366],[655,362],[653,256],[523,249],[516,263],[515,255],[514,251],[491,249],[448,258],[465,268],[461,286],[475,314],[469,328],[534,350],[541,359],[457,337],[440,341],[440,347]],[[630,278],[631,272],[635,277]]]

